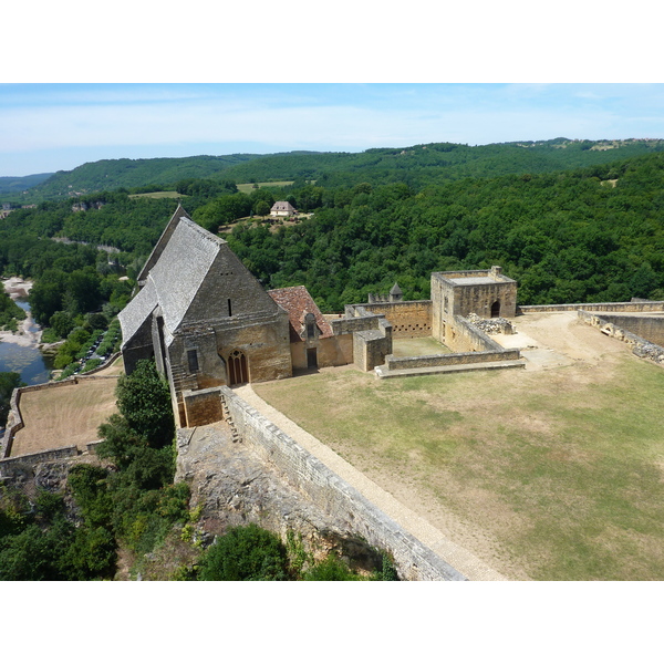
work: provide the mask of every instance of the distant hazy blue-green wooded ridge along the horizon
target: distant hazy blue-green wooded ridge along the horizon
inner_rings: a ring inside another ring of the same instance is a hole
[[[179,180],[217,181],[315,180],[325,187],[404,183],[412,188],[506,174],[550,173],[651,154],[664,141],[568,141],[468,146],[432,143],[362,153],[292,152],[274,155],[236,154],[156,159],[104,159],[59,172],[30,189],[21,203],[137,187],[175,188]],[[0,191],[1,194],[1,191]],[[4,197],[7,198],[7,197]],[[18,201],[17,201],[18,203]]]

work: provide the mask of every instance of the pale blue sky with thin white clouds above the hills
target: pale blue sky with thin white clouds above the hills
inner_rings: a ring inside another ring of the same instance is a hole
[[[4,83],[0,175],[104,158],[664,138],[664,85]]]

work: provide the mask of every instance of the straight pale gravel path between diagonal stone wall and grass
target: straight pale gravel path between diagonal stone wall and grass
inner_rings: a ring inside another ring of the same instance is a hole
[[[251,385],[236,387],[235,392],[261,415],[270,419],[270,422],[278,426],[282,432],[293,438],[293,440],[304,449],[325,464],[333,473],[353,486],[390,518],[394,519],[402,528],[435,551],[443,560],[461,572],[470,581],[507,581],[504,575],[488,567],[463,547],[448,540],[428,521],[402,505],[391,494],[382,489],[378,485],[351,466],[351,464],[342,459],[318,438],[308,434],[303,428],[286,417],[286,415],[266,403],[253,392]]]

